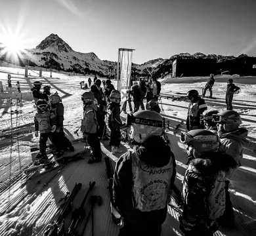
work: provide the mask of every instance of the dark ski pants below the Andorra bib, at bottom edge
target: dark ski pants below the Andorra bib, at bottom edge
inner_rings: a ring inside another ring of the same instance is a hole
[[[145,228],[140,228],[131,224],[128,220],[123,220],[123,227],[121,227],[118,236],[161,236],[161,225],[148,226]]]

